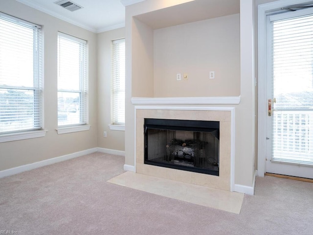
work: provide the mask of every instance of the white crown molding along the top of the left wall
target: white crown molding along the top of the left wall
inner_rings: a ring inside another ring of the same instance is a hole
[[[96,31],[97,31],[95,28],[91,28],[91,27],[89,27],[89,26],[86,25],[86,24],[77,23],[76,21],[73,21],[73,20],[71,20],[71,19],[68,19],[67,17],[64,17],[64,16],[62,16],[62,15],[60,15],[60,14],[58,14],[58,13],[55,13],[55,12],[53,12],[53,11],[50,11],[50,10],[46,9],[44,6],[39,5],[38,3],[35,3],[35,2],[33,2],[33,1],[31,1],[31,0],[16,0],[16,1],[19,1],[19,2],[21,2],[21,3],[23,3],[23,4],[27,5],[27,6],[30,6],[30,7],[32,7],[32,8],[35,8],[35,9],[37,9],[37,10],[39,10],[39,11],[45,12],[45,13],[48,14],[48,15],[54,16],[54,17],[56,17],[56,18],[59,18],[60,20],[66,21],[66,22],[68,22],[68,23],[70,23],[70,24],[74,24],[74,25],[76,25],[76,26],[79,26],[79,27],[82,27],[82,28],[84,28],[84,29],[87,29],[87,30],[89,30],[89,31],[91,31],[91,32],[93,32],[93,33],[96,33]]]

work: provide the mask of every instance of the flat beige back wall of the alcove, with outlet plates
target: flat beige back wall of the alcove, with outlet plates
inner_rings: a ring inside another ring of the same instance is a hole
[[[154,31],[154,96],[240,95],[239,14]],[[215,71],[215,79],[209,72]],[[176,80],[176,74],[188,80]]]

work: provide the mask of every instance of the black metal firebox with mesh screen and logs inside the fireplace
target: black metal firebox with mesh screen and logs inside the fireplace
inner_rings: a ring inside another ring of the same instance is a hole
[[[146,118],[145,164],[219,175],[218,121]]]

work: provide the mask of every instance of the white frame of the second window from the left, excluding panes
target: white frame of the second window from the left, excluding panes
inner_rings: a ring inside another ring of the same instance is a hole
[[[58,119],[58,128],[56,129],[58,134],[66,134],[78,131],[87,131],[90,129],[89,122],[89,111],[88,111],[88,42],[86,40],[68,35],[63,32],[58,32],[58,50],[59,50],[59,38],[66,39],[68,41],[73,41],[79,43],[80,45],[80,68],[79,68],[79,90],[68,90],[62,89],[58,86],[57,93],[66,92],[66,93],[79,93],[80,95],[80,105],[79,105],[79,123],[74,124],[59,124]],[[83,48],[84,47],[84,48]],[[83,54],[81,54],[83,53]],[[59,63],[59,55],[58,55]],[[59,73],[58,73],[58,83],[59,83]],[[58,115],[59,115],[59,104],[58,104]],[[81,121],[82,120],[82,121]]]

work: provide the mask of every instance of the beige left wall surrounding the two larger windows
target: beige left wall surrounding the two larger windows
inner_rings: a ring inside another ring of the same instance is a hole
[[[0,143],[0,170],[31,164],[97,147],[97,38],[96,34],[61,21],[14,0],[1,0],[0,11],[43,25],[45,130],[42,138]],[[89,131],[58,135],[57,129],[57,33],[88,41],[89,47]]]

